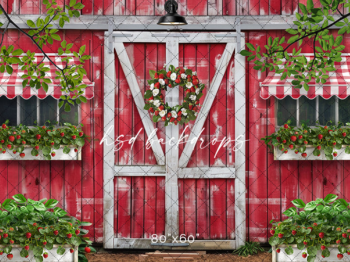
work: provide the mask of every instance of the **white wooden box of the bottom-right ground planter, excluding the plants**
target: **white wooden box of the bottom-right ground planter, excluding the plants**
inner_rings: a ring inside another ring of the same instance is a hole
[[[297,249],[297,245],[290,245],[293,248],[294,253],[292,255],[287,255],[284,252],[284,249],[287,247],[285,245],[280,245],[280,253],[276,252],[276,246],[272,246],[272,262],[306,262],[306,259],[304,259],[301,254],[302,252],[306,252],[306,248],[303,250]],[[321,250],[318,250],[317,256],[315,261],[324,261],[324,262],[336,262],[339,261],[337,258],[337,255],[339,253],[338,247],[330,246],[328,247],[329,251],[331,252],[331,256],[328,258],[322,258],[321,256]],[[348,254],[343,254],[344,257],[341,261],[350,261],[350,256]]]

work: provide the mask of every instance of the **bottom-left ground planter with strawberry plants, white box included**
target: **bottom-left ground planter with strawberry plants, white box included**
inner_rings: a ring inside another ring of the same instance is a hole
[[[78,249],[91,241],[84,238],[88,230],[80,222],[56,207],[58,201],[46,198],[39,201],[17,194],[0,205],[0,260],[43,262],[77,261]],[[89,250],[88,250],[89,251]]]

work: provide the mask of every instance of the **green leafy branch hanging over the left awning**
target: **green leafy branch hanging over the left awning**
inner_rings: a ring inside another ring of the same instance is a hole
[[[63,67],[57,67],[57,76],[55,79],[60,81],[62,86],[61,91],[65,94],[65,101],[61,103],[60,106],[64,105],[65,110],[70,111],[70,105],[67,105],[68,103],[74,105],[75,103],[79,104],[87,101],[86,98],[80,98],[80,96],[84,93],[83,89],[86,88],[86,84],[83,83],[83,78],[87,72],[83,68],[83,65],[91,56],[84,55],[86,49],[85,45],[73,48],[72,43],[67,43],[66,40],[62,41],[59,30],[52,27],[53,22],[58,22],[59,27],[62,28],[66,22],[70,22],[70,17],[79,17],[79,10],[84,8],[84,4],[76,0],[70,0],[69,5],[65,5],[66,10],[64,10],[64,7],[58,6],[57,2],[54,0],[43,0],[43,4],[46,5],[47,16],[40,16],[35,21],[28,19],[26,24],[31,30],[24,34],[29,37],[33,41],[33,44],[44,54],[44,45],[53,45],[54,41],[61,42],[61,46],[57,49],[56,53],[62,56]],[[2,35],[0,45],[2,45],[3,37]],[[77,52],[77,50],[79,51]],[[73,56],[79,58],[81,64],[72,64]],[[8,74],[12,74],[13,65],[18,65],[18,67],[24,71],[24,75],[22,76],[23,87],[29,85],[35,89],[43,88],[43,90],[47,92],[49,84],[53,82],[50,77],[46,76],[46,72],[50,70],[50,67],[45,66],[42,61],[34,62],[34,57],[35,52],[31,52],[30,50],[14,50],[14,46],[12,45],[2,45],[0,48],[0,72],[3,73],[6,71]],[[43,59],[44,58],[45,57],[43,57]],[[50,63],[55,64],[55,61],[50,61]],[[74,95],[70,96],[70,94]]]

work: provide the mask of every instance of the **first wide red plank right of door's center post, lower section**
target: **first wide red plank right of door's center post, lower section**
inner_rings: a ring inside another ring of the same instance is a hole
[[[196,235],[196,180],[184,179],[184,232]]]

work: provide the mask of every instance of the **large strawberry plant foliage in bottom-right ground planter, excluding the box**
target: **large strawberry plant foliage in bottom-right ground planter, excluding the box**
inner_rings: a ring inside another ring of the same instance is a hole
[[[344,199],[329,194],[324,199],[304,203],[301,199],[292,201],[294,207],[283,214],[288,218],[281,222],[271,220],[273,225],[269,239],[271,246],[279,248],[287,245],[285,252],[293,254],[290,245],[297,245],[303,250],[303,257],[308,262],[315,261],[319,250],[322,256],[329,257],[328,247],[335,245],[339,250],[339,257],[350,251],[350,208]]]

